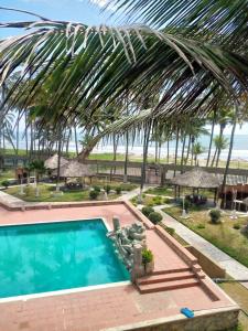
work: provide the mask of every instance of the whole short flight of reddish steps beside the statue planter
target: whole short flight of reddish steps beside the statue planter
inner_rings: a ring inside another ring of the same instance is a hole
[[[160,270],[150,276],[137,279],[137,287],[140,293],[151,293],[166,291],[171,289],[193,287],[200,285],[200,279],[204,278],[204,274],[198,270],[195,273],[191,268]]]

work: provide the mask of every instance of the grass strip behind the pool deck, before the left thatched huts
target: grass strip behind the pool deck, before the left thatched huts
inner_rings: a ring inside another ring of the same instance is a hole
[[[11,195],[14,195],[19,199],[22,199],[26,202],[73,202],[73,201],[89,201],[89,191],[74,191],[74,192],[64,192],[63,195],[53,196],[54,186],[40,184],[40,196],[35,197],[35,189],[33,185],[25,186],[25,195],[20,195],[20,188],[9,188],[4,192]],[[119,195],[111,193],[108,195],[109,200],[114,200]],[[99,199],[100,200],[100,196]],[[104,199],[103,199],[104,200]]]

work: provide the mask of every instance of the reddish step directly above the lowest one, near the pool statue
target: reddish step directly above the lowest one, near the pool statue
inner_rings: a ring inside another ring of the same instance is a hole
[[[137,284],[138,285],[155,284],[155,282],[171,281],[171,280],[190,279],[194,277],[195,275],[192,271],[169,273],[162,275],[150,275],[150,276],[138,278]]]

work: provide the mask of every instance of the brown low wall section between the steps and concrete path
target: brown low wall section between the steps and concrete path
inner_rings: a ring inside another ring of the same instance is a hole
[[[222,268],[211,257],[204,255],[202,252],[200,252],[193,246],[186,246],[185,248],[197,258],[198,264],[203,268],[203,271],[207,274],[207,276],[209,276],[211,278],[226,277],[226,269]]]

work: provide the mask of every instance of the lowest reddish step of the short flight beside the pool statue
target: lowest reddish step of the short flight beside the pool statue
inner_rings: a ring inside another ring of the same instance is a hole
[[[143,284],[137,285],[139,291],[144,293],[152,293],[152,292],[160,292],[160,291],[168,291],[172,289],[185,288],[185,287],[193,287],[197,286],[200,282],[196,278],[190,279],[181,279],[181,280],[171,280],[171,281],[163,281],[163,282],[155,282],[155,284]]]

